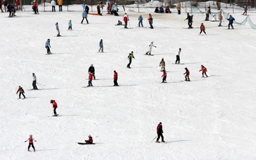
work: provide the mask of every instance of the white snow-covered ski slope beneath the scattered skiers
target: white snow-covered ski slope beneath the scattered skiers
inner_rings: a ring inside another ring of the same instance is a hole
[[[89,15],[90,24],[80,24],[79,5],[70,6],[77,12],[40,15],[29,8],[14,18],[0,14],[0,159],[256,158],[256,31],[248,24],[228,30],[194,14],[195,29],[183,29],[184,11],[157,14],[154,8],[140,8],[141,13],[127,12],[132,29],[123,29],[115,26],[124,15],[121,7],[120,17]],[[148,13],[154,29],[148,28]],[[145,28],[136,27],[140,14]],[[241,9],[232,15],[237,22],[245,18]],[[256,13],[250,16],[256,23]],[[70,19],[73,31],[67,31]],[[61,37],[56,37],[56,22]],[[206,36],[198,36],[202,22]],[[47,38],[52,55],[45,55]],[[97,53],[100,39],[104,53]],[[157,46],[154,56],[145,56],[151,41]],[[173,65],[179,47],[184,65]],[[131,51],[136,59],[129,69]],[[161,58],[166,84],[161,83]],[[90,64],[99,80],[83,88]],[[208,78],[198,72],[202,64]],[[183,81],[185,67],[191,82]],[[119,87],[112,86],[113,70]],[[37,91],[30,90],[33,72]],[[27,99],[17,100],[19,85]],[[51,99],[58,103],[58,117],[51,116]],[[152,142],[159,122],[166,143]],[[38,152],[27,151],[29,134]],[[77,145],[88,134],[96,145]]]

